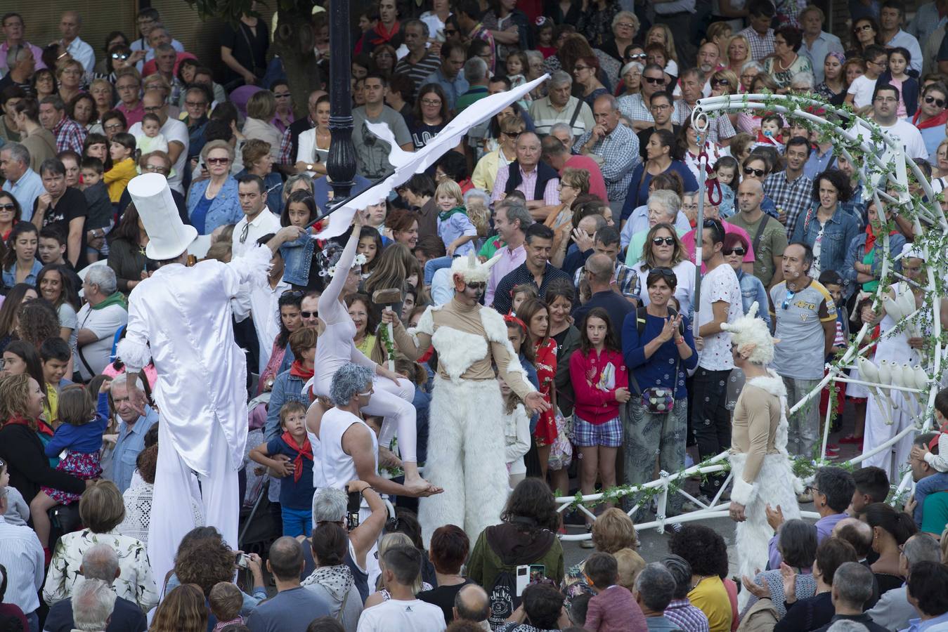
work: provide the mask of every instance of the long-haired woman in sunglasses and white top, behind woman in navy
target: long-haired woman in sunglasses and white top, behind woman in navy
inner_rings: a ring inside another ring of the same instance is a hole
[[[695,264],[688,261],[688,253],[675,226],[663,222],[649,228],[641,257],[642,259],[632,266],[632,270],[639,276],[639,287],[648,287],[648,275],[655,268],[671,270],[676,277],[672,295],[681,307],[679,312],[689,314],[695,296]],[[640,292],[639,303],[647,305],[649,302],[651,297],[647,289],[644,289]]]

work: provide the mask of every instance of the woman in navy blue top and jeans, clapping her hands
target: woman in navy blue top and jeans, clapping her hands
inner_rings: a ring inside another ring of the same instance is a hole
[[[658,225],[655,226],[667,225]],[[668,234],[663,227],[651,232]],[[663,238],[665,239],[665,238]],[[663,244],[663,247],[667,248]],[[694,266],[692,266],[694,267]],[[649,268],[642,295],[648,301],[626,318],[622,327],[622,354],[629,368],[629,425],[626,448],[626,484],[641,485],[654,478],[655,465],[665,472],[684,468],[688,393],[684,380],[698,367],[698,351],[687,316],[668,306],[678,288],[678,275],[665,266]],[[669,371],[673,366],[675,369]],[[662,389],[661,391],[653,389]],[[661,409],[649,406],[644,393],[663,393]],[[657,463],[656,463],[657,458]],[[681,512],[682,498],[669,497],[668,515]]]

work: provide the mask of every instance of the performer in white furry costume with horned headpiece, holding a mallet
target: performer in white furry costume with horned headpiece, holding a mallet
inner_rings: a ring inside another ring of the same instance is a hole
[[[454,298],[428,307],[413,329],[406,331],[390,312],[382,316],[393,324],[395,344],[410,359],[431,344],[438,352],[425,475],[445,494],[421,500],[418,518],[426,543],[445,524],[463,526],[473,539],[501,521],[508,477],[501,388],[492,364],[528,408],[548,406],[526,380],[503,317],[480,304],[492,264],[478,262],[473,254],[455,259]]]

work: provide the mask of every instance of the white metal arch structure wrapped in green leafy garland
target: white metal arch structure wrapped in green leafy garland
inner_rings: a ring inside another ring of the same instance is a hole
[[[795,412],[801,406],[806,405],[812,398],[818,397],[820,391],[827,384],[830,384],[830,382],[856,382],[868,388],[879,389],[877,392],[886,394],[891,390],[902,391],[906,394],[912,393],[919,404],[913,414],[913,421],[915,423],[909,424],[908,427],[880,445],[866,446],[868,448],[867,452],[848,461],[850,464],[857,465],[872,455],[890,450],[895,443],[902,440],[906,435],[925,432],[932,425],[935,395],[939,390],[943,372],[941,360],[946,350],[946,344],[942,339],[941,332],[939,298],[945,297],[946,294],[948,294],[946,293],[946,287],[948,287],[948,248],[945,247],[944,243],[946,236],[948,236],[948,222],[945,220],[944,213],[942,212],[935,192],[931,188],[931,184],[915,162],[905,156],[902,145],[899,143],[900,139],[884,134],[882,128],[875,122],[857,117],[848,109],[836,108],[821,99],[814,98],[812,95],[729,95],[700,99],[691,114],[691,121],[695,130],[702,135],[708,129],[709,118],[711,117],[723,116],[728,112],[747,112],[755,110],[777,112],[784,115],[784,117],[803,119],[807,124],[818,128],[822,135],[830,137],[833,141],[834,152],[846,156],[850,163],[861,172],[864,188],[875,201],[879,209],[880,217],[885,222],[889,221],[895,214],[892,209],[896,208],[898,209],[897,212],[902,214],[903,217],[912,220],[914,232],[918,235],[918,237],[915,238],[915,245],[921,248],[921,251],[925,255],[927,278],[925,283],[926,292],[924,305],[914,313],[902,318],[899,327],[893,328],[886,334],[883,334],[884,337],[888,334],[901,331],[902,327],[910,323],[918,324],[921,322],[922,325],[931,327],[930,335],[934,339],[934,352],[931,356],[923,360],[924,365],[922,366],[922,370],[924,370],[924,376],[921,377],[920,375],[921,379],[918,380],[918,383],[911,379],[905,382],[901,380],[887,380],[885,382],[868,381],[866,377],[862,375],[861,377],[863,377],[863,379],[858,381],[848,378],[843,371],[854,367],[857,360],[865,356],[871,347],[871,345],[863,345],[866,334],[870,331],[870,324],[866,323],[859,333],[856,334],[853,342],[849,344],[843,356],[827,365],[829,372],[819,385],[791,407],[791,412]],[[819,112],[820,114],[814,114],[813,112]],[[828,120],[827,116],[833,117],[834,120]],[[702,154],[700,172],[705,172],[706,165],[707,156]],[[918,183],[921,188],[921,196],[924,196],[927,202],[923,201],[920,195],[911,195],[909,193],[909,173],[912,174],[914,183]],[[704,178],[699,179],[699,186],[698,219],[700,224],[704,206]],[[886,192],[886,187],[893,190],[891,194]],[[923,230],[923,225],[927,226],[928,229]],[[891,263],[897,261],[902,255],[901,253],[889,252],[888,232],[883,232],[882,243],[884,248],[884,260],[881,278],[883,280],[906,280],[909,283],[916,284],[891,269]],[[701,244],[697,242],[697,240],[696,246],[698,250],[696,256],[700,262]],[[700,269],[700,263],[698,267]],[[700,287],[700,285],[698,287]],[[875,307],[878,308],[881,305],[884,292],[887,288],[887,283],[879,284],[873,303]],[[697,299],[695,302],[697,304]],[[905,383],[912,384],[910,386],[903,386]],[[883,401],[885,398],[879,399]],[[891,410],[890,405],[882,404],[882,406],[889,406],[889,410]],[[828,422],[830,410],[831,406],[828,406]],[[827,423],[824,425],[821,455],[826,454],[829,432],[830,424]],[[665,529],[665,522],[667,521],[665,518],[665,504],[669,492],[682,494],[701,507],[701,509],[697,511],[675,516],[674,522],[676,523],[727,516],[727,504],[721,504],[720,496],[727,485],[731,483],[730,476],[721,486],[718,495],[711,500],[710,504],[703,503],[684,492],[683,489],[678,488],[678,481],[684,481],[684,479],[695,475],[725,472],[729,469],[730,464],[727,460],[727,452],[722,452],[716,457],[705,460],[703,463],[693,465],[682,472],[668,473],[663,471],[660,473],[659,479],[650,481],[644,485],[620,487],[613,490],[611,494],[608,494],[608,497],[635,497],[636,495],[641,495],[643,492],[649,496],[656,497],[658,505],[656,519],[647,523],[638,524],[636,528],[655,528],[658,529],[659,532],[662,532]],[[910,483],[911,476],[906,474],[898,486],[897,493],[902,493]],[[580,502],[577,503],[579,510],[592,516],[594,519],[595,516],[593,512],[585,505],[594,505],[597,502],[601,502],[604,497],[607,497],[607,495],[593,494],[583,497],[557,497],[556,502],[559,506],[559,511],[562,512],[579,500]],[[641,503],[635,504],[629,511],[629,515],[637,511],[640,506]],[[818,517],[811,512],[805,512],[804,515]],[[560,536],[563,540],[584,540],[589,537],[590,535],[588,533]]]

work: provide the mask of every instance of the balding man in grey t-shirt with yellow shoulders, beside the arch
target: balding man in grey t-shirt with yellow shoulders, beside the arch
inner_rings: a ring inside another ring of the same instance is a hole
[[[780,339],[771,365],[787,387],[787,401],[797,402],[823,378],[823,364],[836,336],[836,303],[830,292],[812,279],[813,252],[793,243],[783,251],[784,280],[771,287],[771,320]],[[808,402],[790,415],[787,450],[809,458],[818,439],[819,406]]]

